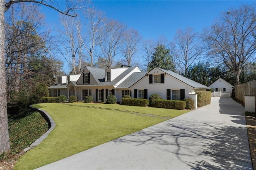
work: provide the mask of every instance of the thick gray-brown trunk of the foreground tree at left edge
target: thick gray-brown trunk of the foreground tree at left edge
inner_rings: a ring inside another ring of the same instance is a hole
[[[7,101],[6,101],[6,73],[4,57],[4,8],[5,1],[0,1],[0,153],[10,150]]]

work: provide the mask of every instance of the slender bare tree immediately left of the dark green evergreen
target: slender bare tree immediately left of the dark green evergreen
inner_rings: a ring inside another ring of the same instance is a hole
[[[146,63],[147,71],[149,71],[149,64],[152,60],[152,55],[155,51],[156,44],[153,39],[144,40],[142,43],[142,57]]]

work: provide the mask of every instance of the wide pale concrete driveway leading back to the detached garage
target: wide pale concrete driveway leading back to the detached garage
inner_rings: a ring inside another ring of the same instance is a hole
[[[231,98],[38,169],[252,169],[244,107]]]

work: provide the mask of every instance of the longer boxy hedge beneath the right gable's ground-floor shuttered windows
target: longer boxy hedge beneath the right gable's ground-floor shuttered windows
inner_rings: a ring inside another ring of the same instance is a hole
[[[179,100],[156,99],[152,101],[152,106],[166,109],[183,110],[186,107],[186,102]]]

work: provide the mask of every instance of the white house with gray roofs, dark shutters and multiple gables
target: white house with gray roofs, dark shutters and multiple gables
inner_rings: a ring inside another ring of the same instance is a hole
[[[124,95],[148,99],[151,94],[158,93],[163,99],[183,100],[196,91],[209,89],[158,67],[149,72],[141,72],[138,67],[102,69],[86,66],[77,80],[70,77],[68,81],[67,76],[66,81],[63,81],[65,77],[62,76],[61,82],[48,87],[50,96],[75,95],[83,101],[84,97],[91,95],[94,102],[106,102],[108,95],[115,95],[117,101],[121,102]]]

